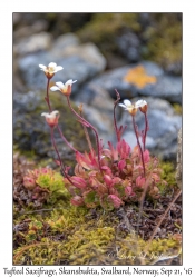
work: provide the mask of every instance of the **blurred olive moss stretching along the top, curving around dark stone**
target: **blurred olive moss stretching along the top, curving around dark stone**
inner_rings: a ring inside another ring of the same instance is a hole
[[[140,13],[96,13],[77,34],[82,42],[96,43],[106,58],[119,52],[116,37],[126,31],[140,34],[142,59],[167,68],[182,62],[182,20],[178,13],[150,13],[143,24]]]

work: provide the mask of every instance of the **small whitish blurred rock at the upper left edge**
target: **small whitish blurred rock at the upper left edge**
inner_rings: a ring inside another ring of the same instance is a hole
[[[32,34],[28,38],[21,39],[14,46],[14,52],[20,56],[33,53],[42,50],[48,50],[51,47],[51,34],[47,32],[40,32]]]

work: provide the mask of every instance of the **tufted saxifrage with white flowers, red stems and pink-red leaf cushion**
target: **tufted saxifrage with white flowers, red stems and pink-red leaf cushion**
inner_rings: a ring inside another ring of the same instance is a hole
[[[49,112],[43,112],[42,116],[46,117],[46,121],[50,127],[51,142],[58,156],[57,163],[60,166],[65,177],[65,187],[72,196],[70,200],[71,203],[74,206],[87,206],[89,208],[101,206],[104,209],[114,209],[119,208],[125,202],[143,202],[145,197],[150,197],[153,199],[158,198],[160,195],[158,185],[166,182],[160,179],[160,168],[157,158],[150,157],[149,151],[146,149],[146,137],[149,128],[147,120],[147,102],[145,100],[138,100],[136,103],[131,103],[129,100],[124,100],[124,103],[119,103],[120,96],[116,90],[117,99],[114,102],[114,127],[117,143],[114,146],[111,142],[108,142],[108,148],[105,148],[96,128],[84,118],[82,107],[76,111],[71,106],[71,86],[76,80],[74,81],[70,79],[66,83],[56,82],[56,86],[51,87],[50,90],[59,90],[65,95],[69,109],[85,129],[90,151],[81,153],[67,141],[58,125],[59,112],[51,108],[49,82],[53,75],[62,68],[60,66],[57,67],[56,63],[50,64],[52,69],[50,69],[50,66],[39,66],[41,70],[45,71],[48,79],[46,101]],[[134,149],[131,149],[121,137],[127,127],[124,128],[121,126],[118,128],[117,126],[115,110],[118,105],[129,113],[129,117],[131,117],[137,140],[137,146]],[[142,112],[144,116],[145,129],[142,130],[142,132],[139,132],[136,125],[135,118],[137,112]],[[94,149],[90,143],[87,129],[91,129],[95,133],[96,149]],[[65,166],[60,158],[53,136],[55,131],[58,131],[68,147],[75,151],[77,165],[74,176],[69,175],[69,167]]]

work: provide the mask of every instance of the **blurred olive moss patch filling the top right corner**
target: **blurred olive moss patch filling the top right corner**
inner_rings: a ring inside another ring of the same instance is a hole
[[[147,40],[145,59],[150,59],[168,67],[182,60],[182,22],[176,13],[154,13],[153,26],[148,26],[143,34]]]

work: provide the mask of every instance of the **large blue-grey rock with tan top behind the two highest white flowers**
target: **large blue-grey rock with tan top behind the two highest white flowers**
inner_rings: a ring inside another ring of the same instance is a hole
[[[55,47],[56,50],[41,51],[19,59],[18,63],[22,80],[30,90],[46,89],[47,80],[42,71],[39,69],[39,63],[47,66],[49,62],[56,62],[64,67],[64,70],[59,71],[52,78],[52,82],[66,82],[68,79],[78,80],[72,87],[72,95],[78,91],[78,88],[80,89],[81,83],[105,69],[106,60],[99,52],[98,48],[92,43],[64,47],[59,53],[57,48],[61,44],[60,41],[58,42],[59,43]]]

